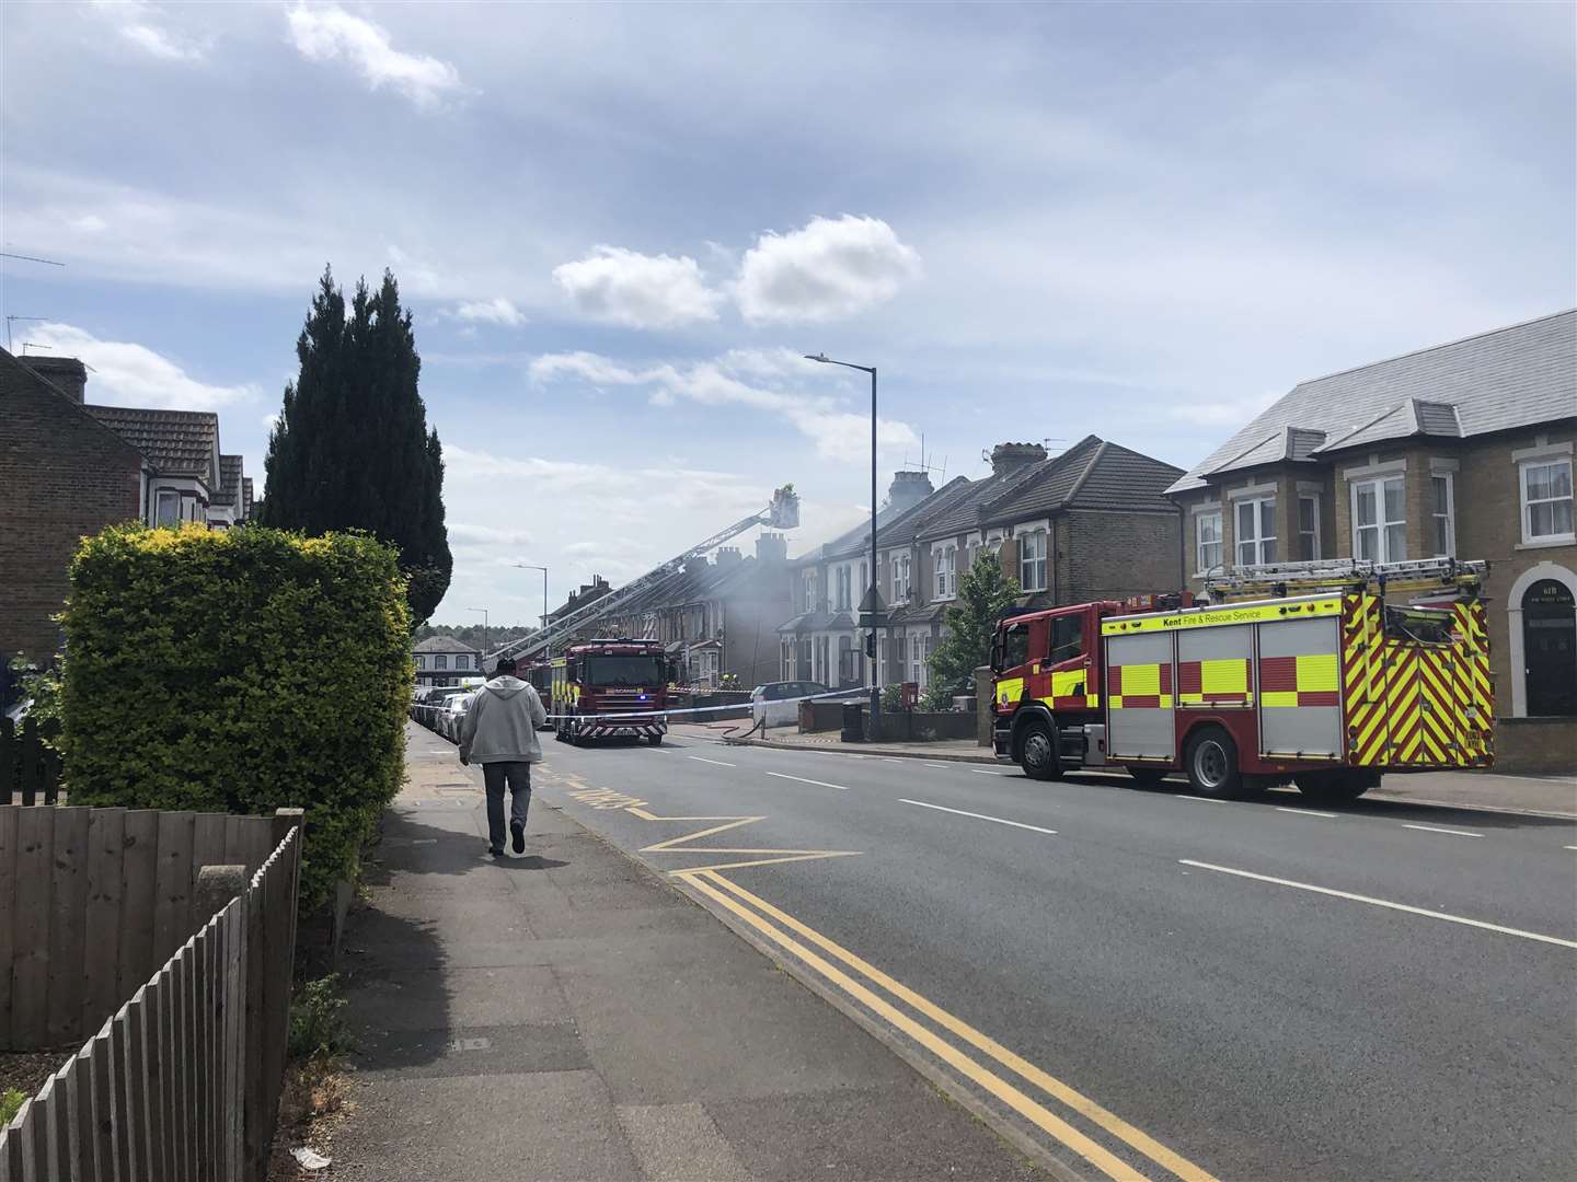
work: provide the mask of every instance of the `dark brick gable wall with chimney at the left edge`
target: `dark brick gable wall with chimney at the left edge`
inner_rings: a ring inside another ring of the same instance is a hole
[[[17,652],[60,648],[50,616],[80,539],[142,512],[153,465],[82,405],[85,381],[80,361],[0,350],[0,681]]]

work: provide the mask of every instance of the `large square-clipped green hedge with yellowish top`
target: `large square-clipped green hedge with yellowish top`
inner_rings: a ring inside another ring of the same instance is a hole
[[[114,526],[71,564],[73,804],[306,808],[303,905],[353,878],[404,775],[410,613],[361,534]]]

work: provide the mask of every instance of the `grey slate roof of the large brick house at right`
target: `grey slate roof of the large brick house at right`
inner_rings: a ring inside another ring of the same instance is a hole
[[[1572,416],[1577,309],[1301,381],[1167,492],[1202,489],[1206,476],[1279,459],[1415,435],[1471,438]],[[1299,433],[1290,454],[1276,454],[1274,440]],[[1306,446],[1318,433],[1325,440]]]

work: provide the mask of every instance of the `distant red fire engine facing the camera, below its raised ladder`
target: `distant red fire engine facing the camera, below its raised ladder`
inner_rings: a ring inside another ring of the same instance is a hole
[[[632,734],[653,747],[669,730],[669,668],[656,640],[588,640],[552,660],[555,738],[576,745]]]

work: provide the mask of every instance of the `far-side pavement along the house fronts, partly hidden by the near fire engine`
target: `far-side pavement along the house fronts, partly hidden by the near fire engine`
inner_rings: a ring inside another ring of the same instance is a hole
[[[735,728],[744,734],[740,723],[683,723],[672,728],[675,738],[719,741]],[[844,742],[837,731],[800,734],[792,728],[774,728],[770,738],[759,733],[740,739],[752,747],[771,747],[793,752],[831,752],[837,755],[883,755],[899,760],[934,760],[937,763],[981,763],[1001,766],[989,747],[979,747],[970,739],[943,739],[938,742]],[[1079,775],[1105,775],[1105,772],[1077,772]],[[1126,782],[1126,774],[1117,782]],[[1181,782],[1181,775],[1176,777]],[[1452,808],[1493,808],[1523,813],[1553,813],[1577,818],[1577,777],[1495,775],[1492,772],[1419,772],[1413,775],[1386,775],[1380,788],[1364,794],[1366,801],[1396,801],[1399,804],[1449,805]]]

